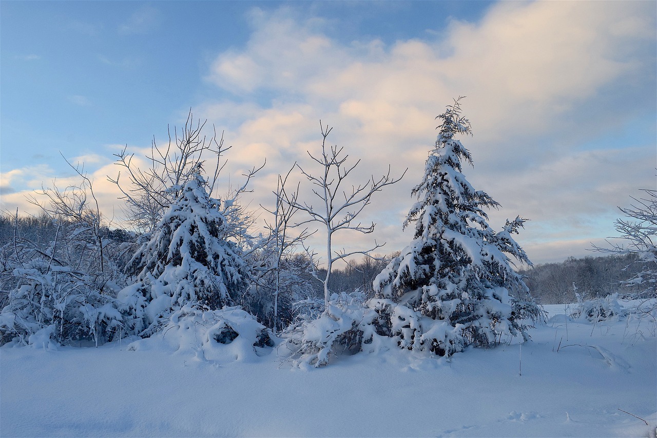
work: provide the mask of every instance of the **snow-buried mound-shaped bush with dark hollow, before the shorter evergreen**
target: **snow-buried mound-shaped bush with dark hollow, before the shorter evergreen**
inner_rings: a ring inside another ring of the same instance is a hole
[[[225,364],[248,362],[271,352],[271,331],[240,307],[184,305],[173,312],[162,330],[147,339],[133,341],[130,351],[165,346],[202,361]]]

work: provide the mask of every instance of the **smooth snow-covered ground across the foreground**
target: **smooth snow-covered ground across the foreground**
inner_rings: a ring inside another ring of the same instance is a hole
[[[654,437],[654,320],[566,324],[562,305],[546,310],[522,351],[451,361],[391,349],[301,370],[277,349],[215,362],[153,339],[3,347],[0,435]]]

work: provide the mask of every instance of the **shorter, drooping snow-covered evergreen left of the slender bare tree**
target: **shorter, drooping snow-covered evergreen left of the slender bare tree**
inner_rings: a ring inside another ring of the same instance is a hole
[[[141,336],[187,304],[209,310],[237,305],[248,288],[249,269],[240,248],[227,239],[221,202],[210,197],[197,169],[128,264],[137,283],[118,299]]]

